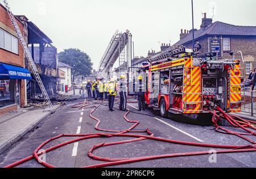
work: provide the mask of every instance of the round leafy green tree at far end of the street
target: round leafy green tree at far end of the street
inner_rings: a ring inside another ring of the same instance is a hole
[[[90,57],[79,49],[64,49],[63,52],[58,54],[58,58],[60,62],[74,67],[72,75],[89,76],[92,73],[93,63],[91,62]]]

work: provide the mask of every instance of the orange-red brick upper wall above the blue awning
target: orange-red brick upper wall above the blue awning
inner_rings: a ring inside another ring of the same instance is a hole
[[[0,22],[5,24],[7,27],[13,29],[13,24],[11,24],[11,19],[9,18],[8,12],[0,5]],[[23,24],[16,20],[19,25],[21,32],[23,33]],[[19,54],[11,53],[7,50],[0,49],[0,62],[9,63],[11,65],[24,67],[24,54],[22,46],[19,43]]]

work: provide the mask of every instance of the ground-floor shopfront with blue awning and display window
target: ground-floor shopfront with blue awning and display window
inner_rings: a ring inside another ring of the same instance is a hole
[[[22,67],[0,63],[0,114],[17,109],[24,100],[21,82],[31,80],[31,73]]]

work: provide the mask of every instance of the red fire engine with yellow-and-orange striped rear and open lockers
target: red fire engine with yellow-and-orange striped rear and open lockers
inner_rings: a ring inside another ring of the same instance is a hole
[[[199,54],[199,48],[171,47],[143,66],[148,106],[168,113],[198,117],[214,106],[241,112],[240,59],[218,59],[218,53]]]

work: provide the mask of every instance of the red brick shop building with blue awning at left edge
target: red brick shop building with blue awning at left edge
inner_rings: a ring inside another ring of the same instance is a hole
[[[24,24],[16,19],[20,31]],[[0,4],[0,114],[26,104],[26,79],[30,72],[24,68],[24,54],[5,7]]]

